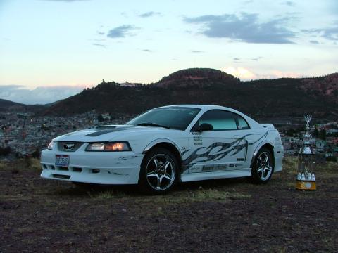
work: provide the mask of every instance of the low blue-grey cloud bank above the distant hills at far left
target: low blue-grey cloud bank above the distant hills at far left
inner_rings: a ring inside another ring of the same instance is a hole
[[[27,89],[22,85],[0,86],[0,98],[27,105],[53,103],[80,93],[86,86],[39,86]]]

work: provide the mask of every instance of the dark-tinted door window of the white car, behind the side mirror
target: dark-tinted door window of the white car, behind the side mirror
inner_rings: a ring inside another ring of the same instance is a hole
[[[201,125],[203,123],[211,124],[213,126],[213,130],[237,129],[234,114],[224,110],[209,110],[204,113],[197,122],[197,125]]]

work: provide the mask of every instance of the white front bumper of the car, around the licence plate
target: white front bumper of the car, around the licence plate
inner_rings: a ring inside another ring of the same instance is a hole
[[[42,150],[41,177],[82,183],[137,184],[144,157],[128,152],[86,152],[82,145],[75,152]],[[55,165],[56,155],[68,155],[68,167]]]

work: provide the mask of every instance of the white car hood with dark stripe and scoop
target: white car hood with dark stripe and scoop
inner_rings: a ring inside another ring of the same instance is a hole
[[[165,129],[154,126],[132,126],[132,125],[114,125],[114,126],[96,126],[92,129],[75,131],[63,136],[58,136],[53,141],[129,141],[137,136],[161,135],[163,132],[180,131],[174,129]]]

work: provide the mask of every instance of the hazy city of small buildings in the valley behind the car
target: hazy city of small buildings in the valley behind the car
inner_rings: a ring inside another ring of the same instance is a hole
[[[56,136],[102,124],[124,124],[130,118],[130,115],[114,118],[109,113],[101,114],[95,110],[70,117],[35,116],[30,112],[1,112],[0,159],[39,157],[41,150]],[[303,125],[299,122],[292,124],[289,120],[285,125],[275,124],[282,137],[285,155],[298,155],[303,143],[304,126],[305,122]],[[311,136],[311,143],[319,157],[337,161],[338,122],[312,125]]]

